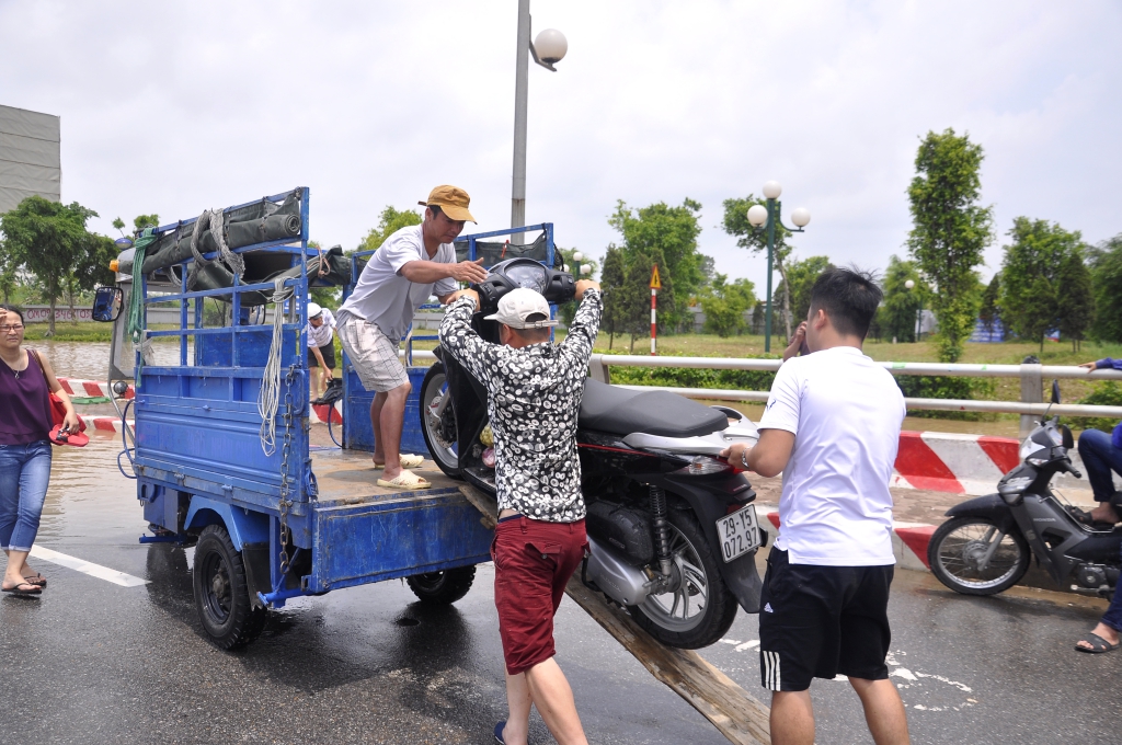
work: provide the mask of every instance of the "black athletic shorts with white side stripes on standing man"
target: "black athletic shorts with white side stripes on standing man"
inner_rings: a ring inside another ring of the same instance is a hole
[[[791,564],[772,549],[760,598],[761,686],[804,691],[811,678],[838,673],[886,679],[892,570]]]

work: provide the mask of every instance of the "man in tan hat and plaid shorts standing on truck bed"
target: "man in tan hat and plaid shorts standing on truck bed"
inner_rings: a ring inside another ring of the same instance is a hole
[[[456,260],[452,241],[463,230],[471,199],[457,186],[438,186],[425,208],[424,222],[393,233],[370,257],[358,285],[339,309],[337,332],[362,386],[376,392],[370,404],[375,468],[385,468],[378,486],[426,489],[429,481],[410,471],[424,458],[401,454],[402,424],[410,379],[397,359],[397,347],[413,314],[430,295],[441,303],[459,289],[458,283],[482,282],[479,261]]]

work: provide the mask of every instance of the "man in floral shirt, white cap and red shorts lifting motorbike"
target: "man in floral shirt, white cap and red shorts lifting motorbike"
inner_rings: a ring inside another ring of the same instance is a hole
[[[526,742],[532,703],[558,743],[587,743],[553,660],[553,615],[588,545],[577,413],[604,310],[595,282],[578,282],[577,300],[580,309],[558,346],[550,342],[557,321],[549,303],[524,287],[487,316],[500,324],[502,344],[471,329],[479,297],[470,289],[454,295],[440,328],[441,344],[488,394],[499,508],[491,559],[511,708],[495,739],[511,745]]]

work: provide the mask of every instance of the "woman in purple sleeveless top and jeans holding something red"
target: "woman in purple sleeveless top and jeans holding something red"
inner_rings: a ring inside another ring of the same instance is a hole
[[[77,432],[79,419],[50,364],[22,344],[24,314],[0,305],[0,546],[8,554],[0,590],[26,597],[40,594],[47,585],[27,565],[27,554],[39,530],[50,479],[49,392],[66,405],[64,427]]]

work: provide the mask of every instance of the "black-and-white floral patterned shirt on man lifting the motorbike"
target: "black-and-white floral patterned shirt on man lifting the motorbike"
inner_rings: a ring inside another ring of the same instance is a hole
[[[568,335],[557,346],[514,349],[486,342],[471,329],[475,310],[469,297],[449,305],[440,342],[487,388],[499,511],[548,523],[582,519],[577,413],[604,310],[599,291],[585,292]]]

